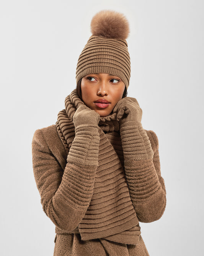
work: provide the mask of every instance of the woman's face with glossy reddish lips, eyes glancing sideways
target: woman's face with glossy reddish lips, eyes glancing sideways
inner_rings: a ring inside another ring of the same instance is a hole
[[[108,116],[113,111],[116,103],[122,99],[124,89],[125,84],[121,78],[105,73],[89,74],[81,81],[83,102],[101,117]],[[95,103],[102,99],[109,104]]]

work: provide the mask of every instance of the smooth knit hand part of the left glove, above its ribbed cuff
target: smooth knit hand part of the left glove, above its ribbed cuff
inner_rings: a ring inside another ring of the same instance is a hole
[[[100,115],[86,105],[80,105],[73,115],[75,128],[79,125],[98,125]]]

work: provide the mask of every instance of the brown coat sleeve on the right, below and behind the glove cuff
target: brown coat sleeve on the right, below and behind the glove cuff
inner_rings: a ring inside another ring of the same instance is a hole
[[[126,161],[126,178],[131,200],[140,222],[150,223],[160,219],[166,208],[166,189],[161,176],[158,138],[147,131],[153,158]]]

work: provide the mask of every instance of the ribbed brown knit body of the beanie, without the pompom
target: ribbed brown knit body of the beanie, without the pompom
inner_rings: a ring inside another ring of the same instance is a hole
[[[126,40],[92,35],[78,58],[76,80],[93,73],[116,75],[129,86],[131,75],[130,56]]]

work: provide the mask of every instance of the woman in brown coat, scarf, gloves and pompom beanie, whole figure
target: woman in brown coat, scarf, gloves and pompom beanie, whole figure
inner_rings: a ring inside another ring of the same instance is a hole
[[[158,138],[127,97],[129,24],[113,11],[91,20],[77,88],[55,125],[35,131],[33,170],[43,211],[55,224],[54,256],[149,255],[140,222],[166,206]]]

